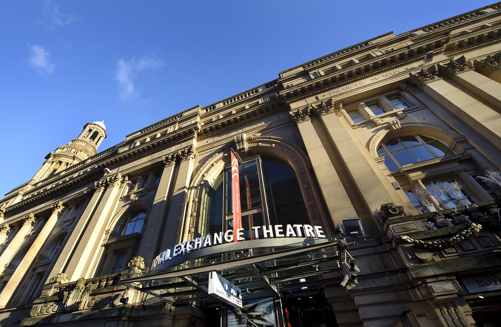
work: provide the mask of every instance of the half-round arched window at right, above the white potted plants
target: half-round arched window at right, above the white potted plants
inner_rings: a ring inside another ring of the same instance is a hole
[[[443,157],[453,152],[442,142],[423,135],[403,135],[383,142],[377,151],[390,171]]]

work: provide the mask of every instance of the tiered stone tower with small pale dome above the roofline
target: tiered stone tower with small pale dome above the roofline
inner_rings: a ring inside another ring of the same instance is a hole
[[[55,173],[77,164],[97,154],[97,148],[106,138],[106,127],[102,122],[87,123],[80,135],[67,145],[49,153],[42,168],[33,176],[32,181],[40,181]]]

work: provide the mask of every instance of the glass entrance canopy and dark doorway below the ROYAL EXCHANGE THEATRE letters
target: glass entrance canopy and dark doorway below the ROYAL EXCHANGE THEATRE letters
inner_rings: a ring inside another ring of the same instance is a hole
[[[121,282],[164,299],[174,320],[188,319],[187,325],[337,326],[323,290],[344,276],[339,254],[335,237],[241,241],[180,255]],[[209,294],[213,273],[235,286],[241,305]]]

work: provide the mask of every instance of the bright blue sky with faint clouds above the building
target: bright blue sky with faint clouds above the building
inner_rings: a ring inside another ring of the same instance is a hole
[[[0,197],[104,119],[108,138],[487,1],[0,2]]]

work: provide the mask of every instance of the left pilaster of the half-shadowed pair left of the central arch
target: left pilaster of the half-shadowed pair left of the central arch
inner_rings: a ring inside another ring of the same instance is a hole
[[[163,171],[160,182],[155,193],[151,212],[148,215],[148,224],[158,226],[158,228],[146,228],[139,249],[144,249],[144,253],[138,252],[138,255],[147,260],[154,258],[160,251],[160,244],[163,238],[167,210],[169,208],[169,193],[172,186],[172,177],[176,163],[174,155],[169,155],[163,159]],[[149,249],[149,251],[148,251]]]

